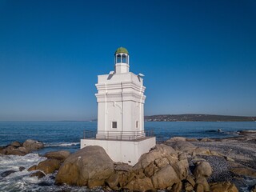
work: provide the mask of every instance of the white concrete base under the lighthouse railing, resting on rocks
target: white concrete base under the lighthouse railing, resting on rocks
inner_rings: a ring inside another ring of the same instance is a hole
[[[81,149],[85,146],[102,146],[114,162],[124,162],[134,166],[141,155],[149,152],[155,143],[155,137],[143,138],[139,141],[81,139]]]

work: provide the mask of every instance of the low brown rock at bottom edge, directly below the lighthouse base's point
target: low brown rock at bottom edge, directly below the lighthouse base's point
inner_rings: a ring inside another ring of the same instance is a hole
[[[154,186],[150,178],[137,178],[123,188],[129,191],[154,191]]]

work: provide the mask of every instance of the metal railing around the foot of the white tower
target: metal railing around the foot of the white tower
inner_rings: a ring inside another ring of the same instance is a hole
[[[106,140],[140,140],[154,137],[154,130],[145,131],[94,131],[84,130],[83,138],[106,139]]]

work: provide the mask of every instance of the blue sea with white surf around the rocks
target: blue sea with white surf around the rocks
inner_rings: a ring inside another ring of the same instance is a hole
[[[18,171],[20,166],[28,169],[43,161],[42,154],[46,152],[78,150],[83,130],[97,130],[97,122],[0,122],[0,146],[13,141],[24,142],[28,138],[41,141],[46,146],[23,157],[0,155],[0,174],[6,170],[17,170],[7,177],[0,176],[0,191],[90,191],[86,187],[54,186],[54,174],[38,179],[30,178],[27,170]],[[256,130],[256,122],[145,122],[145,130],[154,130],[157,142],[174,136],[226,138],[238,136],[238,130]],[[101,188],[96,190],[102,191]]]

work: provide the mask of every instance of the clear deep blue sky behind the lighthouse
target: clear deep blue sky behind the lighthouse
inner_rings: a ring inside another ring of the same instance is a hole
[[[0,0],[0,120],[97,118],[119,46],[146,115],[256,116],[254,0]]]

